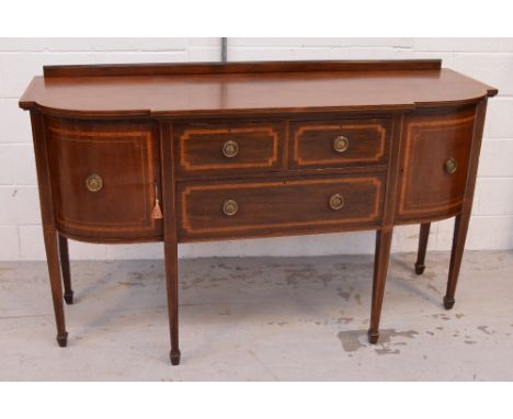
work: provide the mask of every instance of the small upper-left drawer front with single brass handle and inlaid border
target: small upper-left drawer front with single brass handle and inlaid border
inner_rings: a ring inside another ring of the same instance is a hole
[[[281,124],[176,126],[176,173],[198,177],[282,170]]]

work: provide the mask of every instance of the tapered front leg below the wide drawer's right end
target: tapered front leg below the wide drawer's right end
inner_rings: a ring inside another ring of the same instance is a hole
[[[379,318],[381,316],[383,295],[387,280],[388,260],[390,258],[392,229],[376,231],[376,254],[374,259],[373,302],[371,308],[369,343],[379,339]]]

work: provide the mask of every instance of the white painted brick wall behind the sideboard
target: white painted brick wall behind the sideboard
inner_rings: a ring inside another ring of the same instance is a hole
[[[442,58],[499,88],[489,101],[469,249],[513,248],[513,38],[229,38],[230,60]],[[0,260],[45,258],[30,118],[18,99],[44,65],[218,60],[218,38],[0,38]],[[453,220],[430,249],[448,250]],[[418,226],[398,227],[394,251],[413,251]],[[180,246],[182,258],[372,253],[374,234],[349,233]],[[70,244],[73,259],[162,258],[162,246]]]

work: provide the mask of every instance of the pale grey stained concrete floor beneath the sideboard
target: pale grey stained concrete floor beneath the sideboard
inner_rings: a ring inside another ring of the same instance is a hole
[[[513,251],[392,257],[377,346],[373,258],[180,262],[182,364],[169,364],[162,261],[75,262],[68,348],[55,341],[43,262],[0,264],[2,381],[511,381]]]

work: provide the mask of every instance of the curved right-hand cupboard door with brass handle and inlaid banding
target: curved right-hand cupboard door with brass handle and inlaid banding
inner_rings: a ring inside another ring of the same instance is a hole
[[[404,121],[398,218],[460,211],[474,137],[475,109]]]

